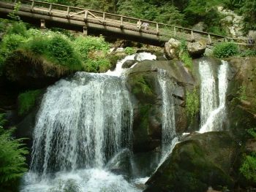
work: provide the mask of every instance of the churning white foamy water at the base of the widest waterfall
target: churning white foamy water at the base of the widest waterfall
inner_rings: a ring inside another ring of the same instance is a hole
[[[39,174],[28,172],[23,177],[20,192],[140,192],[143,191],[146,179],[128,183],[122,175],[104,169],[56,172],[44,180],[41,180]]]

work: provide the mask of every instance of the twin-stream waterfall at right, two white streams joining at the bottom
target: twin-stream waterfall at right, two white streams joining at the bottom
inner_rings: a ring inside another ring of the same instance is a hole
[[[220,131],[225,120],[225,99],[227,91],[227,61],[222,61],[218,69],[218,90],[213,71],[207,61],[201,61],[199,72],[200,86],[200,133]],[[219,102],[219,104],[218,104]]]

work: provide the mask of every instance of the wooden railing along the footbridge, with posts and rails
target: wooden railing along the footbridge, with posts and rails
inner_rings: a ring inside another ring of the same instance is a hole
[[[4,0],[14,7],[17,0]],[[52,15],[61,18],[69,18],[72,20],[84,20],[91,23],[98,23],[106,26],[114,26],[132,31],[139,31],[145,34],[155,34],[159,38],[166,39],[173,37],[176,39],[186,39],[187,41],[204,40],[208,44],[227,41],[234,42],[238,45],[248,45],[247,38],[231,38],[217,34],[211,34],[204,31],[192,30],[181,26],[167,25],[165,23],[157,23],[150,20],[141,20],[139,18],[127,17],[124,15],[116,15],[108,12],[100,12],[91,9],[83,9],[80,7],[70,7],[63,4],[52,4],[45,1],[20,0],[20,9],[30,12],[38,12],[41,14]],[[148,28],[138,28],[137,23],[148,23]]]

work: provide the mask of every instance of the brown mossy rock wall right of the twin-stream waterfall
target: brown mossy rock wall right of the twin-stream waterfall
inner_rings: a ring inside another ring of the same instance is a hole
[[[256,124],[256,58],[229,58],[227,61],[233,74],[227,89],[227,118],[230,131],[241,139],[246,128]]]

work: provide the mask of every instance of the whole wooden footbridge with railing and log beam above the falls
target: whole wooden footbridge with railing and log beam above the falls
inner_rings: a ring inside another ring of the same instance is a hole
[[[7,15],[14,10],[15,4],[17,0],[0,1],[0,17],[7,18]],[[45,26],[66,28],[83,31],[84,34],[102,34],[106,37],[129,39],[148,45],[163,46],[171,37],[186,39],[188,42],[204,40],[208,45],[221,41],[248,45],[248,39],[230,38],[150,20],[43,1],[20,0],[17,15],[23,21],[42,28]],[[138,22],[148,23],[149,26],[148,28],[138,27]]]

